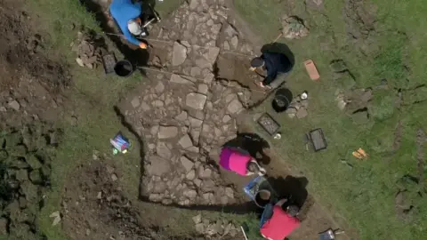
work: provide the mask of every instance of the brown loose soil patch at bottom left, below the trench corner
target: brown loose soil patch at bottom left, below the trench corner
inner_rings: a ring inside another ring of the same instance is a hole
[[[116,170],[102,161],[80,165],[65,187],[63,228],[71,239],[167,239],[125,197]],[[186,239],[173,236],[173,239]]]

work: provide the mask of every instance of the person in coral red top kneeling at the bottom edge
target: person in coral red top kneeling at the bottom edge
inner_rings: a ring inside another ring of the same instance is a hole
[[[278,201],[277,204],[267,204],[261,219],[261,235],[269,240],[283,240],[294,229],[300,226],[300,220],[296,218],[299,207],[296,205],[285,206],[287,199]]]

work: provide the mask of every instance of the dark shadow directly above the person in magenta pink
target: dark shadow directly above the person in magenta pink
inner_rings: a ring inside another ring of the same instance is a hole
[[[239,148],[246,151],[250,156],[254,157],[262,164],[270,164],[270,156],[264,154],[264,148],[270,148],[267,140],[253,132],[238,132],[235,139],[229,140],[222,147]]]

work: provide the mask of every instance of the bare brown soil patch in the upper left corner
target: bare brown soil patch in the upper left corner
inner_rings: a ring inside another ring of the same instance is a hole
[[[44,36],[35,34],[36,19],[20,11],[20,1],[0,8],[0,114],[2,125],[20,126],[60,116],[62,90],[70,84],[66,66],[44,55]]]

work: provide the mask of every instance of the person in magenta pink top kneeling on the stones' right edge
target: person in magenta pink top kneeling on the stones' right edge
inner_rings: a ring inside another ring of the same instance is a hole
[[[239,148],[222,148],[220,165],[224,169],[236,172],[242,176],[250,176],[253,174],[262,176],[266,173],[265,169],[258,164],[254,157]]]

